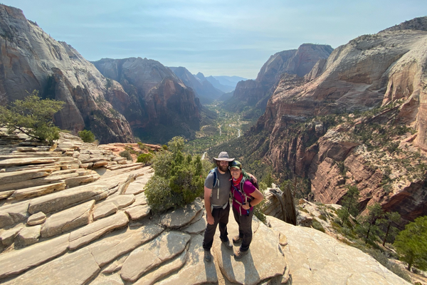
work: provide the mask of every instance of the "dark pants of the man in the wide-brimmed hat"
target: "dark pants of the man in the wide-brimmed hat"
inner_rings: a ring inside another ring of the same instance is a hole
[[[226,209],[214,208],[212,209],[212,216],[214,217],[214,224],[206,224],[203,248],[204,250],[210,250],[214,243],[214,235],[216,231],[216,225],[219,224],[219,238],[221,242],[228,241],[228,214],[230,214],[230,203],[227,204]]]

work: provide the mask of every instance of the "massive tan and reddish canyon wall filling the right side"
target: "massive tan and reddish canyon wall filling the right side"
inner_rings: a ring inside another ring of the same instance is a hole
[[[239,83],[231,99],[256,107],[265,98],[258,123],[241,138],[212,148],[209,157],[228,151],[261,178],[271,170],[279,184],[305,180],[308,187],[295,191],[323,203],[339,203],[354,185],[361,193],[360,212],[379,202],[385,211],[399,212],[401,224],[427,215],[426,41],[423,17],[359,36],[334,51],[302,45],[277,53],[256,81]],[[279,69],[273,68],[275,60],[290,62],[307,48],[325,58],[311,70],[273,73]],[[257,91],[263,78],[275,78],[272,90]]]

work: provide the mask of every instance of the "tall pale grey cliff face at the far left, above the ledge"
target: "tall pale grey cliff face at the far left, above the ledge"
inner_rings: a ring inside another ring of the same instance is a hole
[[[77,133],[90,129],[101,142],[132,142],[130,125],[109,102],[109,93],[129,100],[74,48],[55,41],[22,11],[0,5],[0,92],[4,103],[33,90],[43,98],[65,101],[55,116],[58,127]]]

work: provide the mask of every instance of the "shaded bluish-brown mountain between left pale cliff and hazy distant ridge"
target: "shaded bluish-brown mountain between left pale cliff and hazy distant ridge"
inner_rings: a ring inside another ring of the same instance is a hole
[[[166,142],[174,135],[191,137],[199,130],[199,98],[162,63],[147,58],[102,58],[93,64],[105,77],[120,82],[130,95],[130,100],[113,103],[135,135],[145,138],[162,130],[160,141]],[[162,129],[157,128],[159,125]]]

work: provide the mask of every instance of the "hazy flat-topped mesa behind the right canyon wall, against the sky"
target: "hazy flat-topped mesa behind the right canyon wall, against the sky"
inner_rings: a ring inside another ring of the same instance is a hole
[[[232,99],[252,106],[258,103],[259,108],[265,108],[283,73],[303,77],[317,61],[327,58],[332,51],[331,46],[305,43],[297,50],[275,53],[264,63],[255,81],[241,81],[237,84]]]

